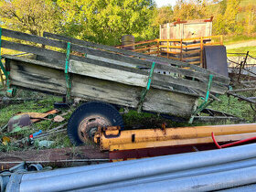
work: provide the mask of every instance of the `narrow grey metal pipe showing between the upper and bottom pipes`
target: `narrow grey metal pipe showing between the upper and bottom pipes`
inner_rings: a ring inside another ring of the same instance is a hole
[[[185,176],[206,175],[206,174],[218,173],[218,172],[240,169],[240,168],[245,168],[250,166],[256,166],[256,158],[238,161],[238,162],[232,162],[228,164],[200,167],[196,169],[178,171],[174,173],[167,173],[167,174],[157,175],[157,176],[147,176],[147,177],[131,179],[128,181],[115,182],[115,183],[101,185],[101,186],[85,187],[85,188],[82,188],[82,190],[83,191],[99,191],[99,190],[106,190],[109,188],[133,186],[133,185],[139,185],[144,183],[163,181],[166,179],[175,179],[175,178],[180,178]]]

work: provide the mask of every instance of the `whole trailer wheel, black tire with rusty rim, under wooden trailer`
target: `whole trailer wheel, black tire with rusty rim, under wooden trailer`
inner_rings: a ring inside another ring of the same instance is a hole
[[[111,105],[101,101],[91,101],[80,105],[72,113],[68,123],[68,135],[72,144],[84,144],[93,140],[98,127],[121,126],[123,118]]]

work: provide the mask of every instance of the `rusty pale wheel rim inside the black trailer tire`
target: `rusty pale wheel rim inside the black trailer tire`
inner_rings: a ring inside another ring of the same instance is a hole
[[[78,130],[80,140],[83,143],[88,140],[93,140],[94,134],[99,127],[107,127],[111,125],[112,123],[100,114],[92,114],[80,122]]]

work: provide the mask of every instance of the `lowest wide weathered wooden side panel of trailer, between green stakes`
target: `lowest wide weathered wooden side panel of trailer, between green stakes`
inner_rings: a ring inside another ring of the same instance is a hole
[[[9,60],[10,80],[13,86],[58,95],[66,94],[66,81],[62,69],[52,69],[24,60],[26,59]],[[71,97],[80,97],[84,101],[105,101],[136,108],[143,90],[141,87],[112,80],[71,74]],[[197,96],[152,88],[144,100],[143,109],[188,118],[196,101]]]

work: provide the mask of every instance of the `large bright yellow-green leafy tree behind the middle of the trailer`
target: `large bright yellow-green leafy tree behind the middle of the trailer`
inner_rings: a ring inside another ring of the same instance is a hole
[[[107,45],[119,44],[127,34],[152,35],[144,33],[151,30],[152,0],[58,0],[57,5],[63,14],[64,35]]]

